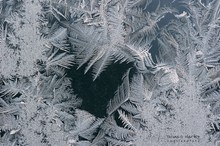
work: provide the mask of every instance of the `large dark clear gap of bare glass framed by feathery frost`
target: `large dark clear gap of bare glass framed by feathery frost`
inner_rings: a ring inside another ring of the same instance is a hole
[[[68,70],[67,77],[72,79],[74,93],[83,100],[80,108],[96,117],[105,117],[106,106],[114,97],[129,67],[131,64],[111,64],[95,81],[92,78],[92,69],[84,74],[85,66],[78,70],[77,66],[73,66]]]

